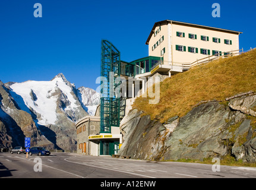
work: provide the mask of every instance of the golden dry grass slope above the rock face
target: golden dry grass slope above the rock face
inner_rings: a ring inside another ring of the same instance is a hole
[[[256,91],[256,50],[230,58],[220,58],[160,83],[160,101],[148,104],[149,97],[138,97],[133,108],[143,110],[161,122],[184,116],[201,100],[224,100],[246,91]],[[153,86],[154,88],[154,86]]]

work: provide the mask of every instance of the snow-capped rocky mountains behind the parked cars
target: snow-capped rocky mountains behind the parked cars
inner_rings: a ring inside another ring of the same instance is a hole
[[[23,144],[15,127],[20,128],[21,136],[31,137],[34,145],[75,150],[75,122],[94,115],[99,105],[99,93],[75,88],[63,74],[50,81],[0,83],[0,87],[0,145],[4,147]],[[29,122],[24,121],[25,116]]]

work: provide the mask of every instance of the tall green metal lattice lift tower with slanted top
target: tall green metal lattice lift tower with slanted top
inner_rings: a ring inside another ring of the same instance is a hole
[[[121,74],[120,52],[108,40],[102,40],[101,90],[100,90],[100,132],[110,133],[111,126],[119,126],[124,115],[124,99],[115,91],[121,81],[115,80]],[[120,114],[121,112],[121,114]]]

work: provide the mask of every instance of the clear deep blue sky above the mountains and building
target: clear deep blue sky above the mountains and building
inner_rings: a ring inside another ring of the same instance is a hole
[[[213,3],[220,18],[213,18]],[[35,18],[34,4],[42,4]],[[0,80],[49,81],[62,72],[75,86],[96,89],[100,42],[108,39],[133,61],[148,56],[145,45],[154,23],[176,20],[242,31],[240,48],[256,47],[256,1],[0,1]]]

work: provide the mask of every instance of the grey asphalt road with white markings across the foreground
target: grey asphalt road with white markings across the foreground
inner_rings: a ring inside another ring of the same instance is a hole
[[[256,178],[255,167],[220,165],[220,172],[213,172],[212,166],[74,153],[51,153],[50,156],[33,155],[28,158],[26,154],[0,153],[0,178]]]

